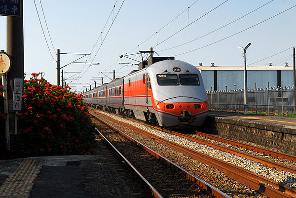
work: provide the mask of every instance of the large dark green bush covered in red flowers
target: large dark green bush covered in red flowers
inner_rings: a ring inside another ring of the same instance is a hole
[[[88,108],[82,95],[38,79],[24,80],[20,132],[16,142],[19,157],[90,154],[95,143]]]

